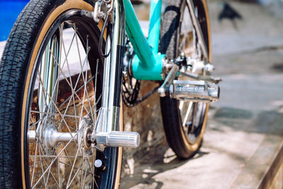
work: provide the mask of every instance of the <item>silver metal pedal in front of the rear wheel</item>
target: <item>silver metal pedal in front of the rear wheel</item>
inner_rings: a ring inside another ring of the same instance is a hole
[[[220,88],[206,81],[174,80],[173,84],[166,88],[165,93],[181,101],[215,102],[219,99]]]

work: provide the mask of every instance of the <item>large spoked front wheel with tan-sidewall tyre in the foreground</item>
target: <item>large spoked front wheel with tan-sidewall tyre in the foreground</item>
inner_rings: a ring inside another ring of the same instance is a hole
[[[86,11],[92,1],[32,0],[11,30],[0,64],[2,187],[119,186],[122,148],[100,151],[84,135],[103,91],[102,23]]]

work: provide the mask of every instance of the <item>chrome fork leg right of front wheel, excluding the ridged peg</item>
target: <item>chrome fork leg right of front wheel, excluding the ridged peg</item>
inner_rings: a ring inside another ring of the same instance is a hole
[[[103,76],[103,96],[95,132],[111,132],[119,129],[120,93],[125,40],[125,9],[122,0],[114,0],[112,12],[112,39],[106,40]],[[108,31],[109,32],[109,31]],[[93,131],[94,132],[94,131]]]

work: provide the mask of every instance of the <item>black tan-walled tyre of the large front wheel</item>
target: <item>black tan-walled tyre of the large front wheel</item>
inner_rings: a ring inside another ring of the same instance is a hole
[[[37,48],[37,40],[40,39],[40,31],[43,30],[44,24],[49,21],[48,18],[52,13],[55,14],[56,11],[63,13],[71,9],[84,8],[93,9],[93,1],[78,0],[76,4],[72,4],[69,0],[32,0],[25,6],[13,25],[0,64],[1,188],[29,188],[26,182],[29,179],[28,174],[23,170],[26,166],[25,161],[23,161],[23,156],[25,156],[24,148],[26,147],[23,144],[25,139],[22,137],[22,133],[26,128],[23,129],[22,127],[22,109],[24,109],[23,103],[27,101],[24,98],[24,91],[28,68],[30,67],[33,52]],[[53,21],[56,19],[57,17],[53,18]],[[98,28],[93,19],[89,18],[88,20],[90,25]],[[52,23],[50,24],[52,25]],[[45,33],[47,33],[47,30]],[[115,161],[111,169],[114,170],[114,173],[109,172],[110,168],[102,173],[109,176],[103,177],[106,180],[103,181],[101,188],[118,188],[119,181],[117,180],[120,179],[121,168],[118,159],[122,159],[122,148],[109,148],[104,154],[108,156],[107,153],[112,156],[112,158],[108,159]]]

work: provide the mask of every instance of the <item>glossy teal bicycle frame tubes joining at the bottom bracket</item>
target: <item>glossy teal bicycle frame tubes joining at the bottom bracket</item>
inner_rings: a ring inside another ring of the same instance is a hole
[[[165,55],[158,53],[161,25],[161,0],[152,0],[149,13],[149,38],[141,30],[134,8],[129,0],[125,6],[125,30],[136,55],[132,60],[132,74],[135,79],[163,80],[162,66]]]

